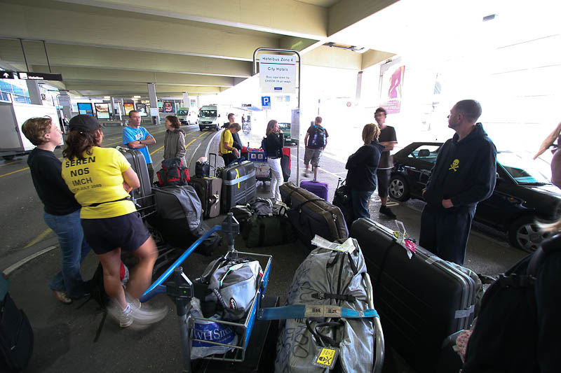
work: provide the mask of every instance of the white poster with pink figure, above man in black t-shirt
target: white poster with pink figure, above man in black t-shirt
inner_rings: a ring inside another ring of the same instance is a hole
[[[388,114],[396,114],[401,110],[404,75],[405,65],[401,63],[400,58],[394,59],[380,68],[380,102]]]

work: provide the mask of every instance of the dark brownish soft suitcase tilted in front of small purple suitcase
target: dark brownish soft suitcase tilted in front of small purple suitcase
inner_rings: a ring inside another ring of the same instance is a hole
[[[339,207],[290,181],[280,185],[280,197],[290,207],[288,218],[295,227],[298,238],[310,250],[314,247],[311,239],[316,234],[329,241],[349,237]]]

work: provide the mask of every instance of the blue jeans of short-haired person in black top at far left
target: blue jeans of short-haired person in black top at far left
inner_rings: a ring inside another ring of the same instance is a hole
[[[58,244],[62,250],[62,270],[50,280],[48,287],[66,291],[71,298],[83,297],[86,293],[86,283],[82,280],[80,265],[88,255],[90,245],[83,237],[80,210],[68,215],[43,213],[43,219],[57,234]]]

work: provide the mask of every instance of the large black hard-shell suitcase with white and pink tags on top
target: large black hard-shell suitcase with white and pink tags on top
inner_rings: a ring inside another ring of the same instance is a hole
[[[393,232],[370,219],[355,220],[351,237],[363,250],[388,345],[418,372],[434,372],[446,337],[471,326],[475,282],[420,246],[410,259]]]

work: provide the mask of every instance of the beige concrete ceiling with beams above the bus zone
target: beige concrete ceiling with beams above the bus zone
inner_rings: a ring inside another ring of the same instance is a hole
[[[353,44],[352,29],[398,0],[0,0],[0,67],[62,73],[79,96],[216,94],[252,75],[257,48],[302,63],[365,69],[393,55]],[[371,35],[374,38],[375,35]],[[363,45],[358,45],[363,46]]]

